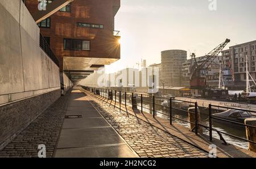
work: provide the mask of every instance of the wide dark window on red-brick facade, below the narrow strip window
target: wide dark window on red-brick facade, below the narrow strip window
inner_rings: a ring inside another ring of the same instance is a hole
[[[64,39],[64,50],[90,50],[90,41],[79,39]]]

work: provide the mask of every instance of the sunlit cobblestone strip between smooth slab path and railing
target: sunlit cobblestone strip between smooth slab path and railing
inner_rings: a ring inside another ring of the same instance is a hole
[[[102,116],[117,130],[139,157],[208,157],[208,153],[189,145],[138,119],[126,112],[119,112],[105,102],[88,95],[88,100],[101,112]]]

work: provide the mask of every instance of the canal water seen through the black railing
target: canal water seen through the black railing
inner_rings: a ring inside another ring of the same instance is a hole
[[[118,102],[118,96],[117,96],[117,102]],[[126,99],[126,103],[127,105],[131,106],[131,97],[129,97],[129,95],[127,95],[127,99]],[[139,110],[141,110],[141,102],[140,102],[140,97],[137,96],[137,107]],[[146,101],[146,102],[144,102]],[[122,103],[125,102],[125,98],[122,95]],[[152,100],[150,98],[143,98],[143,111],[147,112],[147,113],[151,113],[152,114],[152,103],[148,103],[148,102],[152,102]],[[156,104],[161,104],[162,100],[160,99],[156,99],[155,101]],[[183,119],[185,121],[189,121],[188,120],[188,113],[185,111],[187,110],[189,107],[195,107],[193,104],[189,103],[185,103],[185,102],[172,102],[172,107],[174,108],[179,108],[179,109],[184,109],[184,111],[178,111],[178,110],[173,110],[172,111],[172,116],[177,117],[179,119]],[[170,117],[170,113],[169,113],[169,108],[160,106],[160,105],[155,105],[155,111],[156,111],[156,116],[162,118],[162,119],[167,119],[169,120]],[[214,111],[213,111],[214,113]],[[200,117],[201,117],[201,124],[205,125],[205,126],[209,126],[209,119],[208,119],[208,109],[204,109],[204,108],[200,108]],[[174,123],[183,125],[187,128],[190,128],[190,124],[188,122],[184,122],[178,119],[174,119],[172,118],[172,121]],[[220,132],[224,132],[224,133],[229,133],[232,134],[234,136],[237,137],[241,137],[241,138],[245,138],[246,139],[246,132],[245,132],[245,128],[242,128],[240,126],[235,126],[232,124],[227,124],[225,122],[220,122],[220,121],[214,121],[212,122],[212,126],[214,129],[220,131]],[[209,136],[209,130],[203,128],[203,133]],[[247,149],[248,145],[246,141],[240,140],[238,138],[234,138],[234,137],[230,137],[226,134],[222,134],[222,136],[224,137],[225,141],[232,144],[232,145],[236,145],[238,147],[242,147],[243,149]],[[220,136],[218,135],[217,132],[213,131],[213,137],[217,138],[218,140],[220,140]]]

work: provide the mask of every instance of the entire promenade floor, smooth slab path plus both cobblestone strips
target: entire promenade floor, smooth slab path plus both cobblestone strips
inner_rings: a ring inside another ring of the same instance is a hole
[[[208,157],[77,88],[43,112],[0,151],[0,157],[38,157],[39,144],[46,145],[47,157]]]

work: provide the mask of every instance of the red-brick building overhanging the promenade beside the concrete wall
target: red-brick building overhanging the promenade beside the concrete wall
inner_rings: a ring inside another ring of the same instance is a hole
[[[55,0],[47,0],[47,4]],[[38,0],[26,0],[31,14]],[[46,6],[47,7],[47,6]],[[114,17],[120,0],[75,0],[38,23],[40,32],[73,82],[120,58],[119,32]]]

